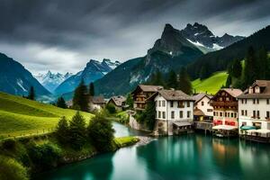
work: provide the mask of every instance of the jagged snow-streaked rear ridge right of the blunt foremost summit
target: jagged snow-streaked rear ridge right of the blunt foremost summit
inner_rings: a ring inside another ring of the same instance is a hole
[[[184,30],[181,30],[181,33],[187,40],[191,40],[199,47],[204,46],[211,51],[225,48],[245,38],[242,36],[231,36],[228,33],[221,37],[215,36],[205,25],[200,23],[194,23],[193,25],[188,23]]]

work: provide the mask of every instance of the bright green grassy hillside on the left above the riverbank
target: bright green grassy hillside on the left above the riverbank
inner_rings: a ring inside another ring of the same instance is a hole
[[[7,136],[21,136],[43,133],[55,128],[61,116],[67,119],[76,113],[53,105],[39,103],[23,97],[0,92],[0,139]],[[92,116],[82,112],[85,120]]]

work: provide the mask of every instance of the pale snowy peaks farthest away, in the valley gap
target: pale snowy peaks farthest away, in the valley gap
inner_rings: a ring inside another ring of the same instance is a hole
[[[69,76],[72,76],[72,73],[67,72],[65,75],[62,75],[60,73],[54,74],[48,71],[46,74],[39,74],[35,77],[41,85],[48,89],[49,92],[53,93],[58,85],[65,81]]]

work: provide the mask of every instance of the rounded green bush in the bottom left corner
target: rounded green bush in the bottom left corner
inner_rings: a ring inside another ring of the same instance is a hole
[[[27,169],[19,162],[10,157],[0,156],[0,179],[11,180],[20,179],[27,180]]]

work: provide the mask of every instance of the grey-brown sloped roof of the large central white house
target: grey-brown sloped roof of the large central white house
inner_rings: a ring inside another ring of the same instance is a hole
[[[192,96],[184,94],[180,90],[162,89],[159,90],[156,94],[162,95],[168,101],[181,101],[181,100],[194,101]]]

